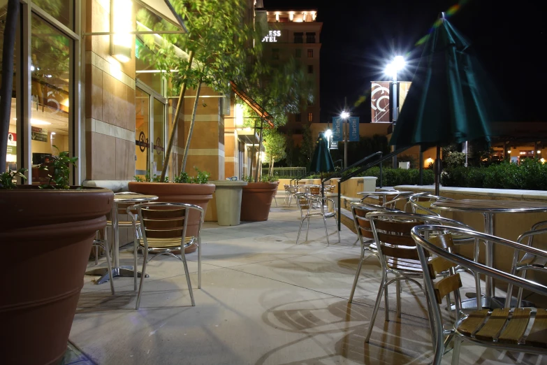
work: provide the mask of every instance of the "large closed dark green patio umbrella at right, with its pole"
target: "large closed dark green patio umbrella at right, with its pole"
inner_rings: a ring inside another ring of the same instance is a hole
[[[489,94],[469,43],[441,15],[428,36],[391,145],[437,146],[435,194],[439,195],[440,148],[450,143],[490,143]]]

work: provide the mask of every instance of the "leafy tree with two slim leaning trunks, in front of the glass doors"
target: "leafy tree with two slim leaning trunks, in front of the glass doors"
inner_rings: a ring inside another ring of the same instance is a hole
[[[181,172],[186,169],[201,85],[208,85],[220,93],[228,92],[229,81],[242,73],[248,52],[253,52],[252,48],[246,48],[253,31],[248,24],[242,22],[245,18],[245,0],[174,0],[172,3],[187,25],[189,34],[163,34],[164,41],[161,45],[157,45],[152,36],[145,37],[147,46],[154,50],[149,53],[149,59],[165,72],[175,90],[180,90],[166,161],[161,172],[162,181],[166,176],[177,120],[187,87],[196,89],[196,99],[184,145]],[[147,26],[156,30],[164,27],[162,23],[154,23],[150,18]],[[181,57],[180,50],[186,50],[188,57]]]

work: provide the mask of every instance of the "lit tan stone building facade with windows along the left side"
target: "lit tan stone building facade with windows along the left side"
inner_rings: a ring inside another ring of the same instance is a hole
[[[7,1],[0,3],[2,33],[6,8]],[[245,21],[252,22],[254,1],[247,9]],[[39,165],[59,150],[78,157],[73,185],[161,173],[178,95],[143,57],[143,37],[161,40],[144,25],[151,17],[187,32],[163,1],[20,0],[6,165],[27,169],[27,184],[48,180]],[[203,85],[188,153],[191,176],[195,166],[210,180],[241,178],[252,173],[251,159],[256,166],[258,136],[238,133],[235,97]],[[175,123],[171,178],[180,172],[194,99],[187,90]],[[210,206],[207,219],[214,220]]]

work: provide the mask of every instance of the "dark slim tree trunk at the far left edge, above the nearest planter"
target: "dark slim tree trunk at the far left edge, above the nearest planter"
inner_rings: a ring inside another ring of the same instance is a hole
[[[2,83],[0,85],[0,173],[6,172],[6,159],[8,156],[11,93],[13,92],[13,52],[19,6],[19,0],[8,0],[6,27],[3,29]]]

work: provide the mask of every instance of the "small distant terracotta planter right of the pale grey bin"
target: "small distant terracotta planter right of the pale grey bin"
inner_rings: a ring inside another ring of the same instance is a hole
[[[249,183],[244,186],[241,196],[241,220],[246,222],[268,220],[270,206],[276,192],[277,183]]]

